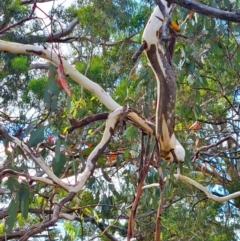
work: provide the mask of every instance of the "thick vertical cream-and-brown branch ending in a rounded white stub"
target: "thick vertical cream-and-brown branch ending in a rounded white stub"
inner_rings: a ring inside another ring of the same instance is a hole
[[[169,5],[165,0],[162,0],[162,4],[165,11],[171,15],[173,5]],[[163,159],[171,162],[184,161],[185,150],[174,134],[175,76],[166,58],[167,54],[159,42],[163,23],[164,16],[157,6],[144,29],[142,37],[142,42],[146,46],[147,58],[157,80],[156,138]],[[176,155],[173,155],[172,151]]]

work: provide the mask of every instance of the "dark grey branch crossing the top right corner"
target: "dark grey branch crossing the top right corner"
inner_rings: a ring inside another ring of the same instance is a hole
[[[193,10],[196,13],[200,13],[202,15],[206,15],[212,18],[219,18],[227,21],[236,22],[236,23],[240,22],[240,14],[237,12],[219,10],[192,0],[167,0],[167,1],[169,3],[176,3],[184,8]]]

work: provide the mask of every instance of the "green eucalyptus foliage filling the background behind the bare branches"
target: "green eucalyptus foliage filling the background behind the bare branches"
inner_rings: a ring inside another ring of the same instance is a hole
[[[22,2],[1,1],[0,30],[29,16],[31,5]],[[229,11],[239,8],[239,1],[203,3]],[[40,17],[31,19],[1,32],[1,39],[51,49],[118,104],[155,121],[154,74],[144,55],[137,63],[131,60],[153,10],[152,1],[79,0],[68,7],[53,5],[49,13],[42,3],[37,6],[46,13],[49,25]],[[188,16],[189,11],[180,6],[172,16],[182,23],[173,55],[175,133],[187,155],[178,167],[211,193],[224,196],[239,190],[240,26],[197,13],[193,19]],[[63,32],[74,18],[78,24],[71,33],[57,41],[49,37]],[[0,130],[0,240],[5,235],[8,240],[19,240],[25,230],[50,220],[54,207],[68,195],[59,183],[41,181],[51,178],[34,158],[40,158],[47,170],[74,186],[104,132],[105,119],[74,126],[80,119],[108,110],[94,91],[79,86],[65,70],[72,93],[68,97],[57,85],[57,67],[33,55],[0,52],[0,122],[10,135],[31,148],[27,155]],[[193,123],[198,123],[198,128],[191,128]],[[124,240],[139,181],[142,146],[149,144],[153,150],[154,143],[154,138],[148,143],[148,136],[131,121],[126,126],[120,123],[99,155],[94,174],[62,207],[57,226],[40,229],[31,237]],[[162,162],[164,177],[170,176],[164,190],[162,240],[237,240],[240,198],[225,203],[211,201],[197,188],[175,180],[176,166]],[[158,183],[156,167],[155,160],[144,185]],[[160,193],[156,187],[143,190],[134,223],[136,240],[154,240]]]

